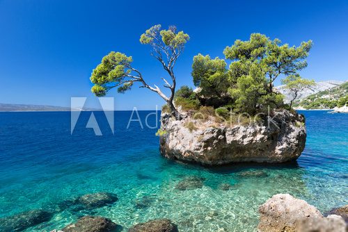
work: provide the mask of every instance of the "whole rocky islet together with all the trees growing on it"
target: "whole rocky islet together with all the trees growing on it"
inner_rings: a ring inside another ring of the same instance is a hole
[[[93,70],[92,92],[100,97],[112,88],[125,92],[141,83],[142,88],[159,94],[166,101],[157,132],[164,157],[223,165],[282,163],[301,155],[306,143],[305,120],[292,110],[292,101],[299,90],[314,83],[299,76],[307,65],[312,41],[289,47],[253,33],[250,40],[236,40],[223,51],[226,60],[232,60],[229,67],[221,58],[194,56],[191,76],[197,89],[182,86],[176,92],[173,68],[189,35],[175,26],[161,30],[161,25],[155,25],[140,41],[151,45],[152,55],[171,77],[171,83],[162,78],[171,95],[167,97],[157,85],[148,85],[132,67],[131,56],[113,51]],[[290,105],[274,90],[279,76],[285,77],[285,88],[295,94]]]

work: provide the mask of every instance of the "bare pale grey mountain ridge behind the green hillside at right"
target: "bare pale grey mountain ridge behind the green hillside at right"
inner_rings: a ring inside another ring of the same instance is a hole
[[[302,92],[299,92],[299,96],[297,97],[297,101],[304,99],[312,94],[316,94],[317,92],[321,92],[324,90],[329,90],[331,88],[334,88],[338,85],[342,85],[342,83],[345,83],[345,81],[319,81],[316,82],[316,85],[311,88],[310,90],[304,90]],[[290,99],[292,98],[292,95],[290,92],[288,92],[287,90],[285,90],[284,85],[279,85],[276,87],[276,89],[281,92],[282,94],[284,94],[285,96],[285,103],[289,103]]]

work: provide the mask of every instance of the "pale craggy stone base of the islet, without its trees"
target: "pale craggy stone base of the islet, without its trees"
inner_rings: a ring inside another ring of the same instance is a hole
[[[160,151],[166,158],[224,165],[238,162],[283,163],[296,160],[306,143],[302,115],[278,110],[271,119],[251,124],[217,124],[183,115],[161,115]],[[251,121],[253,122],[253,121]]]

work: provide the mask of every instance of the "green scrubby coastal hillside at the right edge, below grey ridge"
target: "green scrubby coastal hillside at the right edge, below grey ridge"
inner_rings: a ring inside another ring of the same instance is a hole
[[[332,109],[342,108],[348,104],[348,81],[327,90],[310,94],[297,100],[294,107],[298,109]]]

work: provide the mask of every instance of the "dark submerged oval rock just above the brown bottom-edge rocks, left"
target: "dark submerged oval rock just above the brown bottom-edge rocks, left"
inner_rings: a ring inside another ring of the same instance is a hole
[[[116,194],[109,192],[97,192],[86,194],[77,199],[77,204],[81,204],[86,209],[100,208],[118,201]]]

